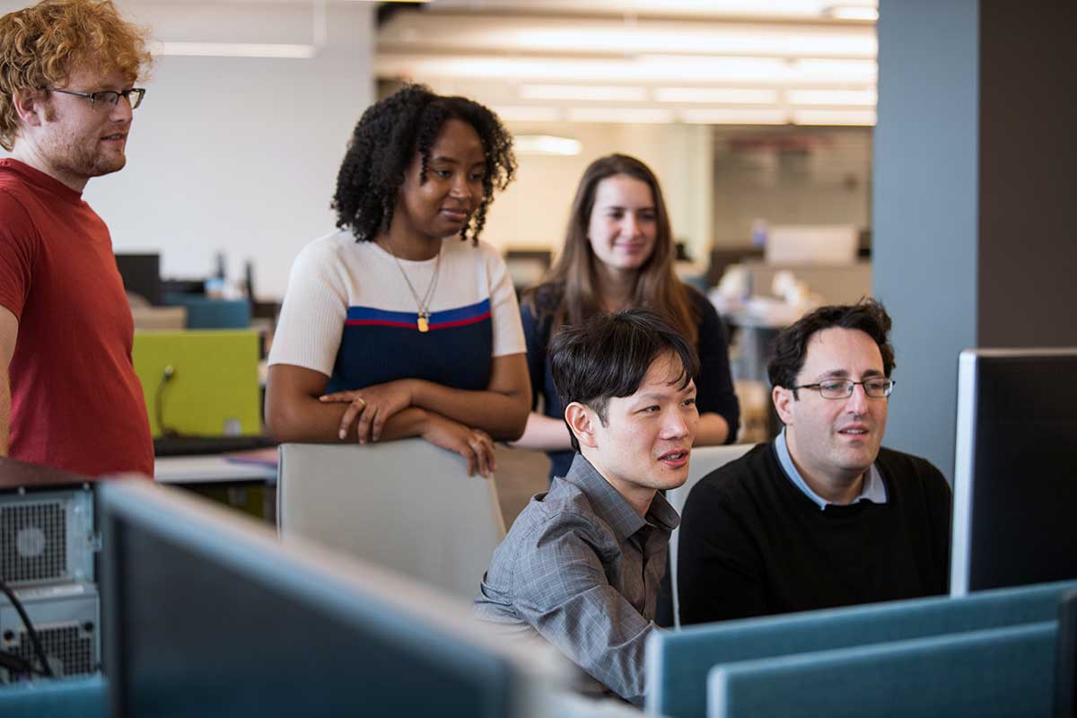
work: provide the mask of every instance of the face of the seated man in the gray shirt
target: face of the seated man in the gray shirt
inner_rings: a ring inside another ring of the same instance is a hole
[[[581,451],[630,502],[646,495],[649,504],[656,489],[675,489],[688,478],[699,411],[696,384],[682,389],[682,381],[681,362],[669,353],[652,362],[633,394],[609,399],[605,422],[588,409],[592,433],[577,436]]]

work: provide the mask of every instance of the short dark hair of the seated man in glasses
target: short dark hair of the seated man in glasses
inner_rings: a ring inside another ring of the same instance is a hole
[[[871,337],[882,354],[883,374],[890,377],[894,370],[894,348],[887,338],[891,324],[886,309],[875,299],[861,299],[855,305],[820,307],[782,330],[774,339],[774,353],[767,366],[770,384],[786,389],[795,386],[797,375],[803,368],[812,335],[835,327],[859,329]],[[793,396],[796,395],[794,389]]]

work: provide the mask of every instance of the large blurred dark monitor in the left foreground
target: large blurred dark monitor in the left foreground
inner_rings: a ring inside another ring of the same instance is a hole
[[[424,586],[145,480],[98,499],[114,717],[493,718],[536,685]]]

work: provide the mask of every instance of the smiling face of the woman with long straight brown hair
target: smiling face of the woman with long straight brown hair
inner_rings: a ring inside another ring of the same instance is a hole
[[[655,251],[657,210],[651,186],[628,174],[614,174],[595,188],[587,239],[600,269],[635,273]]]

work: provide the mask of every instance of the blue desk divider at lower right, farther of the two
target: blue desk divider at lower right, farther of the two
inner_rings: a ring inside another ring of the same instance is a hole
[[[1054,620],[1077,581],[828,608],[656,631],[647,638],[647,713],[707,714],[707,680],[718,663]]]

